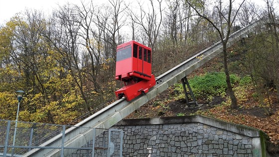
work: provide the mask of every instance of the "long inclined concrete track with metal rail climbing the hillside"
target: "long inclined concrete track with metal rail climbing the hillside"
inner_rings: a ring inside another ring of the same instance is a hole
[[[235,33],[230,35],[228,40],[227,47],[230,47],[236,41],[248,35],[250,32],[254,31],[256,26],[265,24],[265,20],[254,21],[248,26],[236,31]],[[168,70],[162,75],[156,77],[156,85],[149,90],[144,95],[139,96],[138,98],[132,100],[131,102],[126,101],[124,98],[118,101],[113,102],[107,107],[101,109],[97,113],[91,115],[85,120],[77,123],[75,127],[72,127],[66,130],[65,135],[65,146],[71,147],[75,145],[85,145],[87,141],[89,141],[89,131],[80,132],[79,136],[76,136],[76,132],[79,132],[76,127],[91,127],[91,128],[102,128],[109,129],[126,116],[134,112],[140,106],[166,90],[168,87],[181,80],[189,73],[199,68],[201,65],[206,63],[208,60],[212,59],[216,55],[218,55],[223,50],[223,45],[221,41],[216,42],[211,47],[201,51],[200,53],[194,55],[193,57],[185,60],[174,68]],[[75,135],[75,136],[74,136]],[[61,136],[56,136],[53,139],[45,142],[40,147],[59,147],[61,145]],[[64,150],[67,151],[66,154],[70,155],[72,150]],[[30,152],[23,155],[23,157],[28,156],[47,156],[47,157],[59,157],[59,150],[48,150],[48,149],[34,149]],[[65,153],[64,153],[65,155]]]

